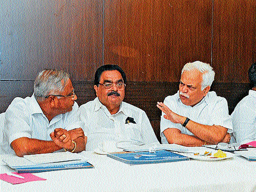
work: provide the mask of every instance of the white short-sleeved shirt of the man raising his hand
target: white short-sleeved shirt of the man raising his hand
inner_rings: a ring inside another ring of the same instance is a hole
[[[228,129],[228,133],[232,133],[232,121],[228,115],[227,101],[223,97],[219,97],[215,92],[208,94],[195,106],[188,106],[181,102],[179,91],[175,95],[167,96],[164,104],[168,106],[174,113],[188,117],[189,119],[204,125],[220,125]],[[173,123],[161,116],[160,135],[162,143],[168,143],[164,136],[164,130],[168,128],[176,128],[182,134],[194,135],[183,127],[180,123]]]

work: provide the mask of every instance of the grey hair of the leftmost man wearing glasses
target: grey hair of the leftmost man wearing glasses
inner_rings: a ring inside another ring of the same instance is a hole
[[[65,89],[69,74],[54,69],[44,70],[38,74],[34,82],[36,100],[45,100],[46,96],[59,94]]]

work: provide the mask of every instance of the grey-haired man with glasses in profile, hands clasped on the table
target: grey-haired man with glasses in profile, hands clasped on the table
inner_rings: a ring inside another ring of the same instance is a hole
[[[76,99],[69,74],[40,72],[34,82],[34,94],[25,99],[16,97],[6,110],[4,151],[20,157],[62,148],[83,151],[86,139],[77,121]]]

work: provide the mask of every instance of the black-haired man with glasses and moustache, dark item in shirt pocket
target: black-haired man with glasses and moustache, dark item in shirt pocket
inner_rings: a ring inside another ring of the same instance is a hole
[[[97,97],[79,108],[83,129],[88,133],[87,151],[104,142],[116,145],[159,143],[146,113],[123,102],[126,76],[116,65],[97,69],[94,89]]]

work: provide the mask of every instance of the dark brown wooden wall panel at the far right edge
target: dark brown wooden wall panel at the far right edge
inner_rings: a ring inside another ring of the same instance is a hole
[[[215,1],[213,36],[215,81],[248,82],[248,69],[256,62],[256,2]]]

